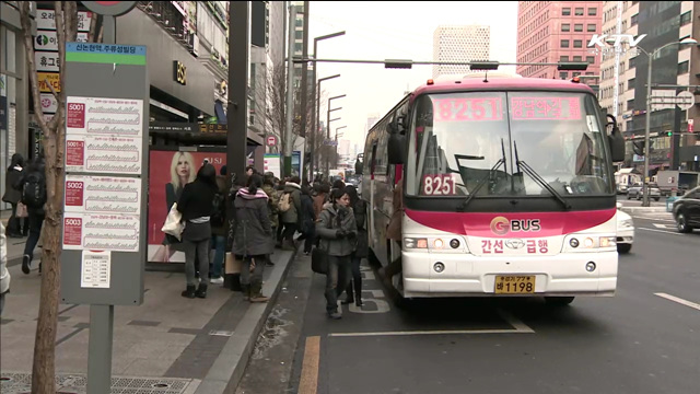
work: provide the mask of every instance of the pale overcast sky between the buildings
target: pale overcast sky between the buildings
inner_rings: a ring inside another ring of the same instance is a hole
[[[517,1],[310,1],[308,51],[314,37],[346,31],[346,35],[318,42],[319,59],[411,59],[431,61],[433,33],[439,25],[481,24],[491,26],[491,59],[515,61]],[[340,78],[322,82],[331,102],[332,138],[364,143],[368,116],[384,116],[406,91],[432,78],[432,66],[385,69],[383,65],[319,62],[317,78]],[[326,102],[320,119],[326,119]]]

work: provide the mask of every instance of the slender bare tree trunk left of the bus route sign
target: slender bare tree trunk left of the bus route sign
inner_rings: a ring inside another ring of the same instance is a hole
[[[42,290],[39,299],[39,312],[36,324],[36,337],[34,343],[34,361],[32,367],[32,393],[56,393],[56,366],[55,348],[56,333],[58,328],[58,304],[60,292],[60,255],[61,255],[61,221],[63,219],[63,187],[66,169],[63,157],[66,154],[66,79],[63,68],[66,62],[66,43],[74,42],[78,32],[78,2],[55,1],[56,37],[60,61],[60,91],[54,90],[46,81],[51,94],[58,102],[56,114],[50,120],[44,116],[40,103],[40,91],[36,63],[34,61],[34,39],[32,37],[32,16],[30,13],[31,1],[18,1],[20,19],[24,35],[24,49],[26,54],[30,88],[32,89],[32,103],[34,105],[35,120],[43,131],[43,148],[46,162],[46,193],[47,201],[44,207],[46,218],[44,220],[44,239],[42,247]],[[94,19],[94,18],[93,18]],[[93,22],[96,23],[96,22]],[[95,34],[94,24],[91,25],[91,40]]]

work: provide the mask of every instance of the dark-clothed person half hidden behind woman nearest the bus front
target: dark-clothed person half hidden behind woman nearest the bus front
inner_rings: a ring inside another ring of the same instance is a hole
[[[358,190],[352,185],[346,186],[346,194],[350,197],[350,207],[354,215],[358,236],[355,237],[354,252],[352,252],[351,257],[352,280],[349,281],[348,287],[346,288],[348,297],[342,301],[342,303],[351,304],[354,302],[357,306],[362,306],[362,273],[360,273],[360,264],[363,258],[368,257],[370,252],[366,230],[368,202],[358,196]]]

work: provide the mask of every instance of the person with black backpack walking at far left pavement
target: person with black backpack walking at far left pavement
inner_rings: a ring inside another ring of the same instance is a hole
[[[22,171],[22,176],[14,184],[14,188],[22,193],[22,204],[26,206],[30,217],[30,236],[26,240],[26,244],[24,244],[24,254],[22,256],[22,273],[28,275],[34,257],[34,248],[39,242],[42,225],[46,217],[44,205],[48,197],[46,194],[46,164],[44,163],[43,154],[39,154],[25,171]],[[39,274],[42,274],[40,263]]]

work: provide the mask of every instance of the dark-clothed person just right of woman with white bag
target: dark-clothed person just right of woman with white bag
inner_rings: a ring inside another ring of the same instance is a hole
[[[226,254],[226,166],[222,166],[217,176],[218,192],[214,195],[213,211],[211,213],[211,248],[210,279],[212,285],[223,285],[221,276],[223,259]]]

